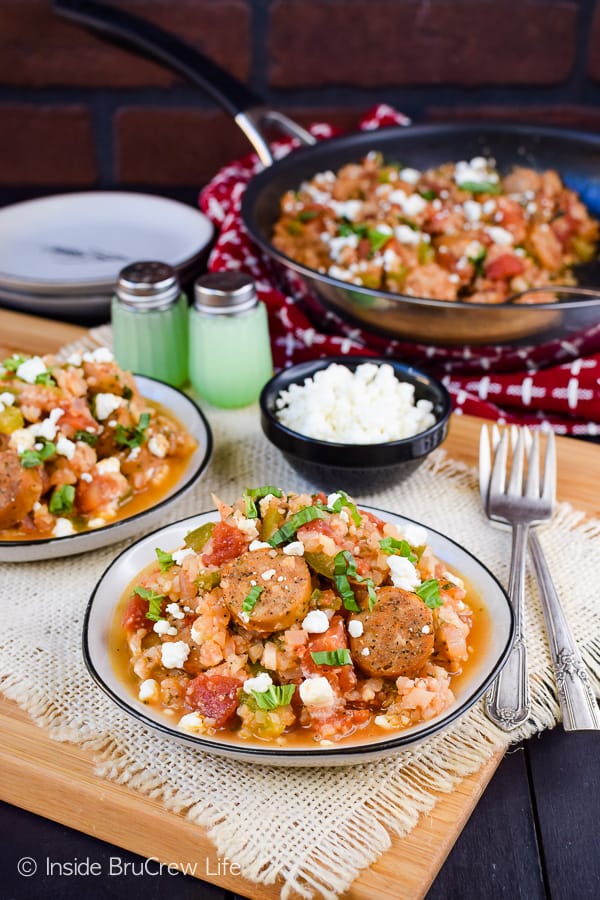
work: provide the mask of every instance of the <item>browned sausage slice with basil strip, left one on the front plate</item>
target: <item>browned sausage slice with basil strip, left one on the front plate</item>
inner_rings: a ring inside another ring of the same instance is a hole
[[[312,584],[305,561],[271,550],[252,550],[226,562],[221,569],[223,599],[240,625],[271,634],[289,628],[308,612]],[[250,613],[242,604],[253,587],[262,588]],[[246,615],[248,618],[246,618]]]

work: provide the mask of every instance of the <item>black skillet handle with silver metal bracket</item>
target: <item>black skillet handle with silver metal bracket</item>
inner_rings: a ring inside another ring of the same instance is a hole
[[[303,144],[315,143],[312,134],[301,125],[283,113],[266,109],[260,97],[229,72],[191,44],[152,22],[96,0],[54,0],[54,12],[100,32],[102,37],[113,43],[123,44],[141,56],[162,63],[201,87],[233,116],[263,165],[269,166],[273,162],[267,140],[260,130],[263,123],[276,125]]]

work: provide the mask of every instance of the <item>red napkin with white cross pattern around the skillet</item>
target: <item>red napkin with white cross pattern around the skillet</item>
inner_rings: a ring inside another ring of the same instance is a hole
[[[386,105],[375,107],[359,123],[362,130],[408,124]],[[327,123],[316,123],[310,131],[317,138],[336,133]],[[294,141],[282,140],[272,149],[279,158],[294,146]],[[353,327],[248,237],[240,218],[241,198],[260,168],[254,154],[225,166],[200,194],[200,205],[218,234],[209,269],[241,269],[255,279],[269,312],[277,368],[323,356],[390,356],[441,378],[456,413],[551,426],[560,434],[600,436],[600,322],[568,341],[512,349],[426,346]]]

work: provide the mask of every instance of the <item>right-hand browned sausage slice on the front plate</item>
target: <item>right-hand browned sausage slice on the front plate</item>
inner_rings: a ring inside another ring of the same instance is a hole
[[[364,629],[360,637],[350,638],[352,659],[367,675],[416,675],[433,652],[432,612],[410,591],[380,588],[373,611],[352,618]]]

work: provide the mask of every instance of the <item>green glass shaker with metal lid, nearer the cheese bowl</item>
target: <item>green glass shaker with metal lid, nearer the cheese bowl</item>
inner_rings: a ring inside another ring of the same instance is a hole
[[[267,309],[243,272],[210,272],[194,284],[190,381],[225,409],[258,399],[273,374]]]

